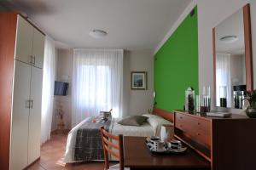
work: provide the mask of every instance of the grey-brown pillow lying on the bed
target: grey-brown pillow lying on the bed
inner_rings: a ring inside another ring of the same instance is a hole
[[[120,120],[118,123],[120,125],[139,127],[143,124],[143,122],[146,122],[147,119],[147,116],[129,116]]]

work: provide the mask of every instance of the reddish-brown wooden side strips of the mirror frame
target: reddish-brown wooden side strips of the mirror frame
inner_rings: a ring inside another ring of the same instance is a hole
[[[250,4],[247,3],[242,7],[243,25],[244,25],[244,42],[245,42],[245,64],[246,64],[246,85],[247,91],[253,90],[253,48],[252,48],[252,31]],[[213,98],[216,107],[216,44],[215,44],[215,27],[212,28],[212,49],[213,49]]]

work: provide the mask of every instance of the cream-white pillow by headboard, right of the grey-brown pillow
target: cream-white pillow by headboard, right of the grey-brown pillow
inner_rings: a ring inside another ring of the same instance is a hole
[[[172,122],[166,120],[165,118],[153,114],[144,114],[143,116],[147,116],[147,122],[151,127],[155,130],[155,135],[160,136],[160,130],[162,125],[173,125]]]

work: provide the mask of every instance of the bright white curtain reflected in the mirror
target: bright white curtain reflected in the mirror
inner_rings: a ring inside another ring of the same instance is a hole
[[[220,106],[221,88],[226,89],[227,107],[231,107],[231,74],[230,54],[216,54],[216,96],[217,106]]]

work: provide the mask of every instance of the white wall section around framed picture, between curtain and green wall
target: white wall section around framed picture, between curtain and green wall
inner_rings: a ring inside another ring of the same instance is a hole
[[[131,90],[131,71],[147,71],[147,90]],[[125,51],[124,55],[124,116],[142,115],[153,107],[153,51]]]

